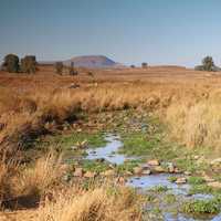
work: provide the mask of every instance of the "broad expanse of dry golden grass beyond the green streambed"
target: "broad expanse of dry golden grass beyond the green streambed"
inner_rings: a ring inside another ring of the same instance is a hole
[[[85,70],[78,76],[57,76],[45,66],[36,75],[0,73],[1,148],[17,150],[18,144],[44,134],[48,124],[74,119],[80,110],[128,107],[160,114],[172,136],[187,145],[220,144],[219,73],[176,66],[93,72],[94,77]],[[71,83],[81,87],[69,88]]]

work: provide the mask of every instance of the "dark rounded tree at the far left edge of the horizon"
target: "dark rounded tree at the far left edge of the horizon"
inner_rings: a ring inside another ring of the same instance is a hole
[[[4,62],[1,69],[10,73],[18,73],[19,72],[19,56],[17,56],[15,54],[6,55]]]

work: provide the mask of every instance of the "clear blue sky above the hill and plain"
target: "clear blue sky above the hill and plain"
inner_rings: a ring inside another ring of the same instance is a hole
[[[0,0],[0,61],[106,55],[139,65],[221,65],[220,0]]]

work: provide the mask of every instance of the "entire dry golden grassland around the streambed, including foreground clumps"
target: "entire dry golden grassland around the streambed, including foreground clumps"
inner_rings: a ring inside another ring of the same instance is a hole
[[[92,115],[101,113],[133,109],[134,113],[151,114],[167,126],[167,136],[183,148],[201,148],[209,152],[209,158],[220,157],[221,73],[179,66],[92,70],[93,75],[85,69],[78,72],[76,76],[60,76],[51,66],[40,66],[35,75],[0,72],[2,204],[32,196],[29,200],[42,204],[29,210],[30,217],[38,213],[39,220],[48,220],[46,217],[53,214],[53,221],[71,221],[73,215],[76,220],[109,221],[113,211],[115,218],[124,217],[122,220],[125,221],[140,220],[141,212],[135,203],[139,197],[127,188],[113,190],[101,185],[86,191],[76,185],[63,187],[60,179],[66,168],[54,154],[33,160],[31,167],[21,164],[25,161],[24,150],[30,149],[40,136],[57,129],[74,129],[75,124],[85,118],[90,122]],[[73,85],[77,87],[73,88]],[[55,200],[48,200],[57,191],[64,191],[65,198],[59,193]],[[75,197],[71,198],[70,191]],[[108,197],[109,191],[116,193]],[[66,204],[65,210],[63,204]],[[17,217],[17,212],[2,215]],[[23,218],[22,212],[19,215],[20,220],[35,219]]]

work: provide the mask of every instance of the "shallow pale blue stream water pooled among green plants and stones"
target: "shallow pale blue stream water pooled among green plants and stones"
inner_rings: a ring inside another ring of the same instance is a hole
[[[87,157],[86,159],[105,159],[109,161],[110,164],[120,165],[124,164],[125,160],[128,159],[135,159],[129,158],[125,155],[118,154],[119,148],[123,146],[123,143],[120,141],[120,137],[116,135],[107,135],[106,136],[107,145],[104,147],[99,147],[96,149],[87,149]],[[178,202],[176,202],[176,207],[180,207],[183,200],[187,199],[211,199],[212,196],[210,194],[193,194],[189,196],[188,191],[190,189],[189,185],[176,185],[168,180],[168,178],[171,175],[169,173],[157,173],[157,175],[148,175],[148,176],[133,176],[128,178],[127,186],[134,187],[141,191],[144,194],[146,191],[164,186],[168,188],[167,193],[172,193],[177,196]],[[173,176],[173,175],[172,175]],[[179,175],[178,175],[179,176]],[[160,200],[160,197],[159,197]],[[217,217],[207,217],[207,218],[190,218],[186,217],[182,213],[170,213],[168,212],[169,206],[168,204],[159,204],[161,212],[160,219],[158,217],[147,218],[148,221],[156,221],[156,220],[162,220],[162,221],[221,221],[221,214]],[[146,210],[148,213],[151,213],[151,211],[155,209],[155,204],[148,203]]]

